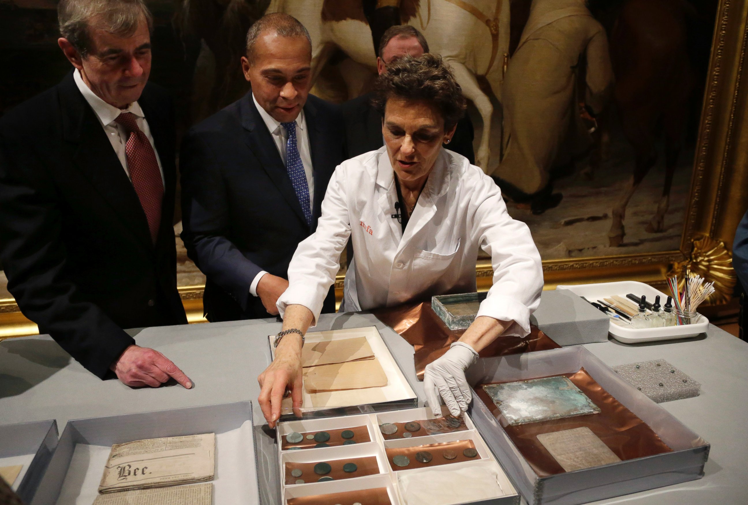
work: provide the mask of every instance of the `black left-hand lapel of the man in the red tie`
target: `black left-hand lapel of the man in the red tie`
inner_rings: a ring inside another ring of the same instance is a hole
[[[78,90],[70,72],[60,85],[65,139],[73,145],[73,163],[138,241],[153,245],[145,212],[96,114]]]

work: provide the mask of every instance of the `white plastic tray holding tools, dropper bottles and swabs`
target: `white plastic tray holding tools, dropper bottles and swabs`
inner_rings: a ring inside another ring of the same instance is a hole
[[[589,301],[609,298],[617,294],[626,297],[632,293],[638,296],[645,295],[647,301],[654,302],[654,297],[660,295],[660,304],[664,305],[669,295],[657,291],[648,284],[636,281],[601,282],[599,284],[559,285],[557,289],[568,289],[580,297]],[[675,309],[673,309],[675,310]],[[698,322],[683,326],[665,326],[664,328],[633,329],[619,326],[611,322],[608,332],[618,341],[625,344],[638,344],[640,342],[652,342],[657,340],[672,340],[673,338],[689,338],[706,332],[709,320],[699,314]]]

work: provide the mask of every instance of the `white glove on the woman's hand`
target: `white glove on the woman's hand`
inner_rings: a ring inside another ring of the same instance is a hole
[[[450,414],[457,417],[468,410],[473,395],[465,379],[465,371],[478,359],[478,353],[468,344],[454,342],[444,356],[426,365],[423,388],[426,400],[435,416],[441,417],[439,396]]]

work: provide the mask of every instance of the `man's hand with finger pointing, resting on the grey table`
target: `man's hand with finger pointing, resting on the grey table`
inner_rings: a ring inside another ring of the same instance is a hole
[[[158,388],[170,378],[187,389],[192,387],[190,379],[171,362],[171,359],[157,350],[135,344],[127,347],[110,368],[123,384],[132,387],[150,385],[152,388]]]

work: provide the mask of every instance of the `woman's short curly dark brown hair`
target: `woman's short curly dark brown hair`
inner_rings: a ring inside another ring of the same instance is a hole
[[[465,115],[465,96],[452,69],[441,56],[430,53],[418,58],[403,56],[387,65],[387,72],[375,81],[372,105],[384,116],[387,100],[393,96],[432,102],[441,111],[445,131]]]

